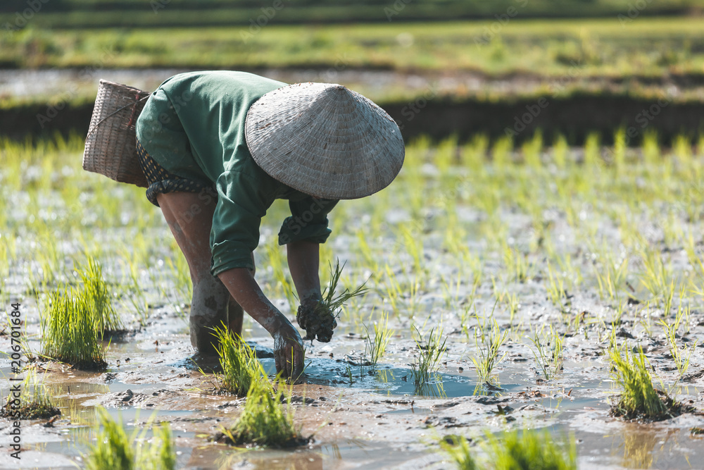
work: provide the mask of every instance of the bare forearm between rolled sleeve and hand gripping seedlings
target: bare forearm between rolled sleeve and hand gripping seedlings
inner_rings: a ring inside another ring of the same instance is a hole
[[[301,240],[286,245],[291,278],[303,307],[312,307],[322,299],[320,293],[320,245]]]

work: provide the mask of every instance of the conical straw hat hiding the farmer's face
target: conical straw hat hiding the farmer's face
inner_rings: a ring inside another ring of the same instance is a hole
[[[406,151],[398,125],[342,85],[296,83],[249,109],[247,146],[275,180],[325,199],[356,199],[388,186]]]

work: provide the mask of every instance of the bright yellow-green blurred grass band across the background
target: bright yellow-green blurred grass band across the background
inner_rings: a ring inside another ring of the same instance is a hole
[[[491,29],[496,33],[491,33]],[[704,74],[700,18],[32,30],[0,35],[13,67],[320,67],[474,70],[489,75]]]

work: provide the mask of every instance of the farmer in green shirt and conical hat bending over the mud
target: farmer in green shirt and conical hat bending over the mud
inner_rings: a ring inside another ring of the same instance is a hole
[[[188,261],[191,345],[215,352],[212,328],[241,333],[243,309],[274,338],[277,372],[303,371],[301,336],[254,278],[261,218],[288,199],[286,245],[306,339],[327,342],[334,321],[312,319],[322,299],[320,243],[339,199],[382,190],[401,169],[401,132],[386,112],[342,85],[282,82],[242,72],[182,73],[153,92],[137,120],[137,153]]]

